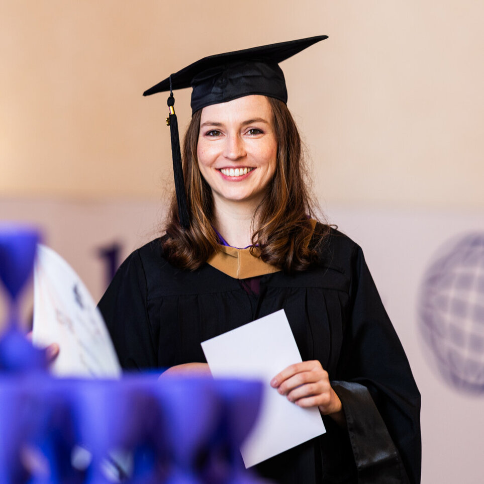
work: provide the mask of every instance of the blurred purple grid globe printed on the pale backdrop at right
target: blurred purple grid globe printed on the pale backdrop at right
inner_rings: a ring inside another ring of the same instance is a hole
[[[445,379],[455,388],[484,393],[484,233],[461,237],[432,263],[418,310]]]

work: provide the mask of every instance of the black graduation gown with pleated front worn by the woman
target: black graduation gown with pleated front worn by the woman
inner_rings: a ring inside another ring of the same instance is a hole
[[[347,426],[323,417],[324,435],[258,472],[287,484],[420,482],[420,394],[363,253],[345,235],[331,230],[310,270],[263,275],[258,295],[209,264],[173,267],[156,239],[125,260],[99,308],[126,369],[205,362],[202,341],[284,309],[303,361],[328,371]]]

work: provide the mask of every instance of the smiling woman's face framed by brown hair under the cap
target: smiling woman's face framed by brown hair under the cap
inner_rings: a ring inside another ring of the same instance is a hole
[[[197,156],[216,207],[250,202],[255,208],[262,201],[277,158],[272,118],[261,95],[203,108]]]

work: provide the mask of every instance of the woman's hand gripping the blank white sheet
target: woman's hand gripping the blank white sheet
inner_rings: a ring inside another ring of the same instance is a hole
[[[272,378],[270,385],[290,402],[304,408],[318,407],[322,415],[329,415],[339,424],[344,422],[341,400],[318,360],[288,366]]]

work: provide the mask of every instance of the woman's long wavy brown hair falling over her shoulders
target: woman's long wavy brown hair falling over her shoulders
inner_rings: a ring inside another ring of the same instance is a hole
[[[269,101],[277,140],[277,163],[266,196],[257,207],[252,223],[258,227],[252,235],[252,254],[264,262],[294,273],[317,261],[317,247],[308,246],[315,218],[313,198],[306,183],[301,137],[287,106],[274,98]],[[178,221],[176,196],[173,193],[163,239],[166,258],[183,269],[197,269],[217,251],[218,237],[213,228],[214,203],[209,184],[200,173],[197,144],[202,110],[193,114],[183,140],[183,176],[187,193],[190,227],[183,230]],[[326,224],[317,226],[322,243]]]

